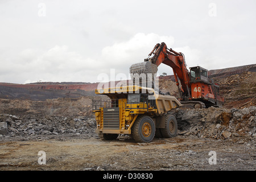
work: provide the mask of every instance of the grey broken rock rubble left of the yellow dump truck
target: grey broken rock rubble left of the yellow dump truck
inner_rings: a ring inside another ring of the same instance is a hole
[[[94,133],[95,128],[95,119],[87,117],[0,114],[0,136],[79,135]]]

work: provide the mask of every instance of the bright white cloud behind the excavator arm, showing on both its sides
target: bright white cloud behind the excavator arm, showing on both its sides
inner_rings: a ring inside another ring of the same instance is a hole
[[[142,62],[144,58],[148,57],[148,53],[152,51],[155,44],[162,42],[166,43],[168,48],[184,53],[188,67],[194,67],[202,63],[201,57],[203,53],[199,49],[189,46],[174,47],[175,39],[173,36],[160,36],[155,33],[138,33],[126,42],[107,46],[102,49],[102,58],[108,65],[115,68],[117,72],[128,74],[132,64]],[[161,75],[163,72],[166,72],[168,75],[173,74],[171,67],[160,64],[158,74]]]

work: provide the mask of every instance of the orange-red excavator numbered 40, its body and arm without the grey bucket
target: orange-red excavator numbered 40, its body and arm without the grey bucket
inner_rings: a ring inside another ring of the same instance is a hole
[[[188,71],[184,54],[167,48],[165,43],[156,44],[144,61],[157,67],[163,63],[172,68],[181,104],[193,108],[218,107],[224,104],[224,97],[220,96],[220,85],[208,77],[207,69],[197,66],[189,68]],[[132,69],[133,65],[130,70]]]

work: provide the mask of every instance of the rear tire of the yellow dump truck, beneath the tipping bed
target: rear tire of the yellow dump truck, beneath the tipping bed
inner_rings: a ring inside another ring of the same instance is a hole
[[[177,120],[174,115],[167,114],[164,121],[164,128],[160,129],[160,133],[164,138],[176,137],[177,135]]]

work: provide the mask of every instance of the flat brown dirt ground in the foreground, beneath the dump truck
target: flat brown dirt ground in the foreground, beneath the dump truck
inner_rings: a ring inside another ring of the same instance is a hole
[[[233,143],[181,135],[151,143],[135,143],[127,136],[103,141],[92,134],[10,137],[0,141],[0,170],[247,171],[256,169],[255,147],[254,140]],[[39,164],[42,156],[45,164]]]

